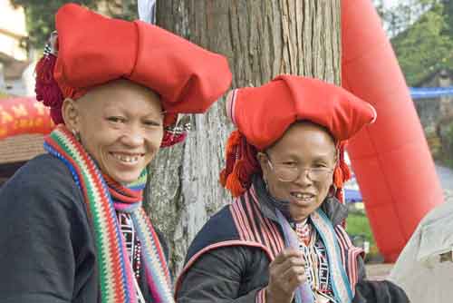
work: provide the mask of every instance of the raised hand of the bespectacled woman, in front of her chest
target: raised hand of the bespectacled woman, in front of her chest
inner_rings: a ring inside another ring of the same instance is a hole
[[[306,280],[303,257],[298,249],[284,249],[269,264],[266,302],[291,303],[294,290]]]

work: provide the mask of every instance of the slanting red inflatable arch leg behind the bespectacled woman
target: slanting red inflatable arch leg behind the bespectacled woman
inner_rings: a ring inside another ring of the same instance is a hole
[[[371,0],[342,0],[342,86],[377,121],[349,145],[377,245],[395,261],[419,220],[443,202],[409,89]]]

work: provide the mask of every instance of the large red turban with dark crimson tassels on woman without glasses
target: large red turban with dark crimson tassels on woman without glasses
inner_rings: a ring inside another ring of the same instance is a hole
[[[206,112],[231,83],[224,56],[158,26],[112,19],[74,4],[58,10],[55,24],[56,62],[52,54],[44,56],[36,69],[37,99],[52,107],[55,123],[63,122],[64,98],[77,99],[119,78],[159,94],[165,126],[178,113]]]

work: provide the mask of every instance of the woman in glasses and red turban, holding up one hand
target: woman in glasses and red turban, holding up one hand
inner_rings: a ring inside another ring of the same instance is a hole
[[[376,112],[340,87],[291,75],[233,91],[226,108],[237,131],[220,181],[237,199],[188,249],[178,302],[352,302],[365,272],[342,228],[343,147]],[[388,286],[366,285],[357,302]]]

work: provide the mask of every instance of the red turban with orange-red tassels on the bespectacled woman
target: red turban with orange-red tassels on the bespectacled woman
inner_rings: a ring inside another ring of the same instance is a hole
[[[341,190],[350,176],[342,158],[344,144],[376,119],[371,104],[342,87],[293,75],[280,75],[260,87],[234,90],[228,94],[226,112],[237,131],[226,144],[226,169],[220,181],[234,196],[246,191],[251,175],[260,171],[256,152],[271,146],[291,124],[301,120],[322,125],[335,138],[340,161],[333,182]]]

